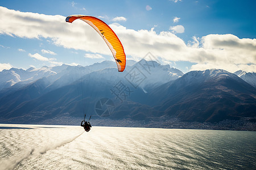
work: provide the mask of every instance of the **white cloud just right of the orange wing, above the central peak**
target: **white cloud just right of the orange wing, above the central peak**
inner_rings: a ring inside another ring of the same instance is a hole
[[[158,34],[154,29],[135,31],[114,24],[111,24],[110,27],[117,33],[126,54],[133,57],[142,58],[148,52],[151,52],[159,57],[171,58],[175,57],[176,52],[179,50],[182,52],[187,47],[183,40],[171,32],[160,32]]]

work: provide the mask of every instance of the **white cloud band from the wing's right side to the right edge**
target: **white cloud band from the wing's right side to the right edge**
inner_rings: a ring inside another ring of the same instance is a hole
[[[171,32],[154,29],[126,29],[122,25],[111,25],[120,36],[128,55],[143,57],[147,52],[163,61],[189,61],[196,63],[191,70],[210,68],[255,71],[256,39],[239,39],[234,35],[208,35],[201,39],[193,37],[188,45]],[[136,41],[134,41],[136,40]]]

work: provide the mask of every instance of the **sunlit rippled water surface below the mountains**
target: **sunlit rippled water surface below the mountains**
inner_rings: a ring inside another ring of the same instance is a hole
[[[0,169],[256,169],[256,132],[1,125]]]

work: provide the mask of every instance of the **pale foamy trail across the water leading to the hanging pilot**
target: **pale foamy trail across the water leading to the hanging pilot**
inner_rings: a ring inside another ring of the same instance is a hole
[[[81,134],[83,133],[84,131]],[[49,150],[54,150],[56,148],[66,145],[67,143],[74,141],[76,138],[80,137],[81,134],[76,135],[75,137],[69,138],[64,141],[50,143],[49,145],[46,145],[46,146],[31,148],[29,151],[24,151],[23,155],[19,155],[17,157],[14,156],[13,158],[0,160],[0,165],[1,165],[0,170],[14,169],[19,165],[20,162],[22,162],[24,159],[27,159],[30,155],[45,154]]]

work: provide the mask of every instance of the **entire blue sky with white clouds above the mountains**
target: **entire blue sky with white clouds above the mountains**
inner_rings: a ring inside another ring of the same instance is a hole
[[[256,72],[255,7],[255,0],[0,1],[0,71],[114,61],[88,24],[65,22],[84,14],[110,25],[127,59],[150,52],[184,73]]]

